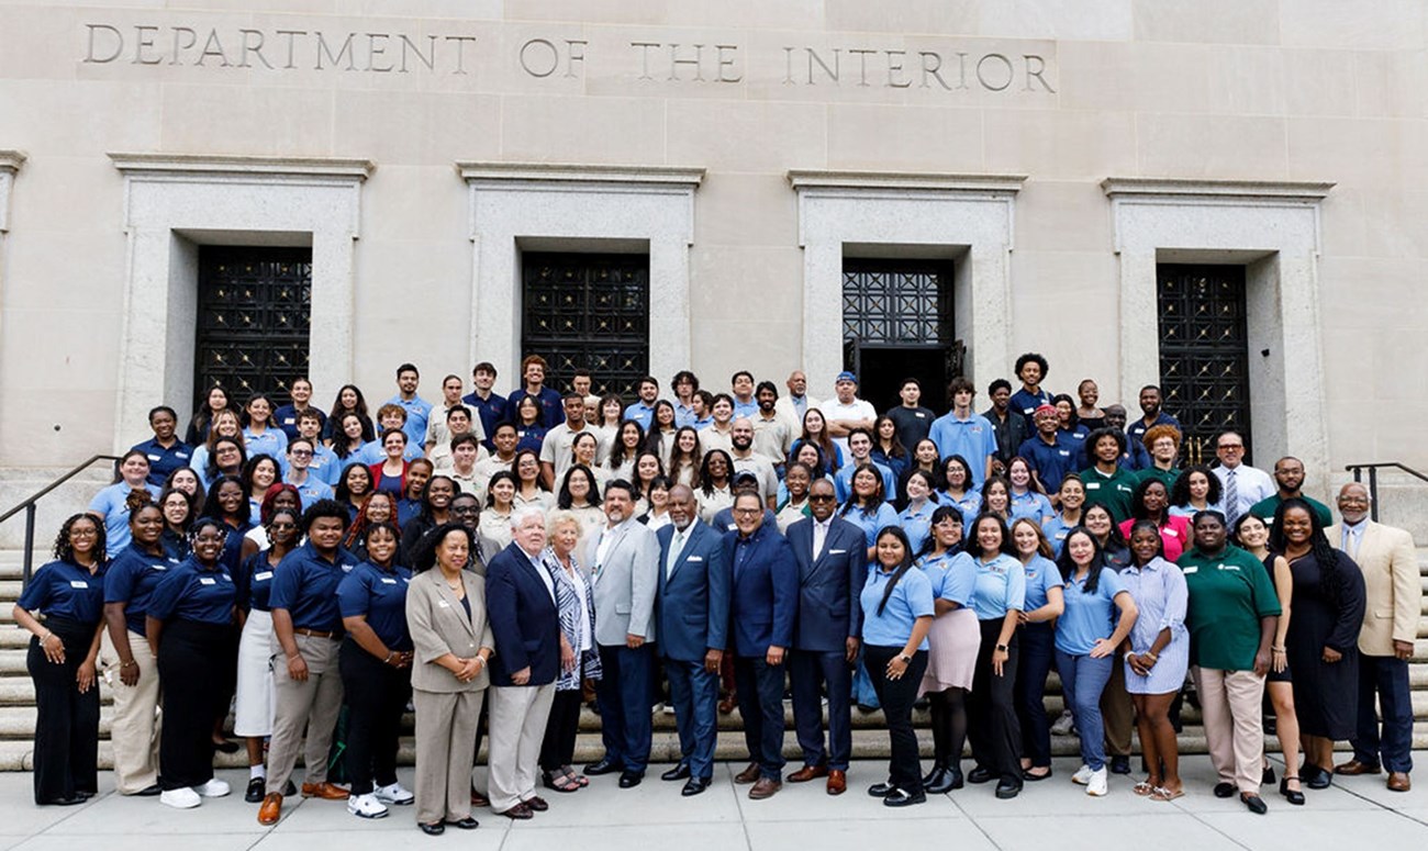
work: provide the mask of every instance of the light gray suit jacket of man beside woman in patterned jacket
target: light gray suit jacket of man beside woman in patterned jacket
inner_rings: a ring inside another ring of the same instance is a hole
[[[604,564],[600,541],[614,535]],[[595,644],[623,645],[625,635],[654,641],[654,600],[660,581],[660,540],[643,523],[627,520],[603,528],[585,543],[585,564],[595,588]]]

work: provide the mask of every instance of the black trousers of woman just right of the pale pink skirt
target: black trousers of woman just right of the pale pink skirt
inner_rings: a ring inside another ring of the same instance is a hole
[[[978,621],[981,647],[977,648],[977,673],[972,693],[967,695],[967,738],[971,740],[977,765],[1004,781],[1021,784],[1021,722],[1014,698],[1017,660],[1021,655],[1017,633],[1007,644],[1001,677],[991,670],[991,654],[1001,638],[1001,618]]]

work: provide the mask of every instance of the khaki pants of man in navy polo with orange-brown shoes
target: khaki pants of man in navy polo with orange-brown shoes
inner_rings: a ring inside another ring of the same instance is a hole
[[[337,671],[337,648],[331,638],[294,635],[297,651],[307,663],[307,680],[298,683],[287,674],[287,658],[280,653],[273,660],[273,740],[268,744],[267,794],[283,794],[293,767],[297,764],[303,728],[307,745],[303,761],[307,765],[304,784],[327,781],[327,752],[333,747],[333,730],[343,708],[343,678]]]

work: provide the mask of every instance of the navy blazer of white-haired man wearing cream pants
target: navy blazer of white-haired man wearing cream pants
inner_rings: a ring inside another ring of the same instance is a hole
[[[496,638],[491,685],[514,685],[511,674],[530,665],[527,685],[560,674],[560,611],[526,551],[516,544],[486,567],[486,617]]]

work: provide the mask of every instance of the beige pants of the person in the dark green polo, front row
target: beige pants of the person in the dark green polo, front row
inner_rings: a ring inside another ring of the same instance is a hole
[[[1205,742],[1220,782],[1232,782],[1241,792],[1259,794],[1264,754],[1264,677],[1254,671],[1191,668],[1200,708],[1205,718]]]

